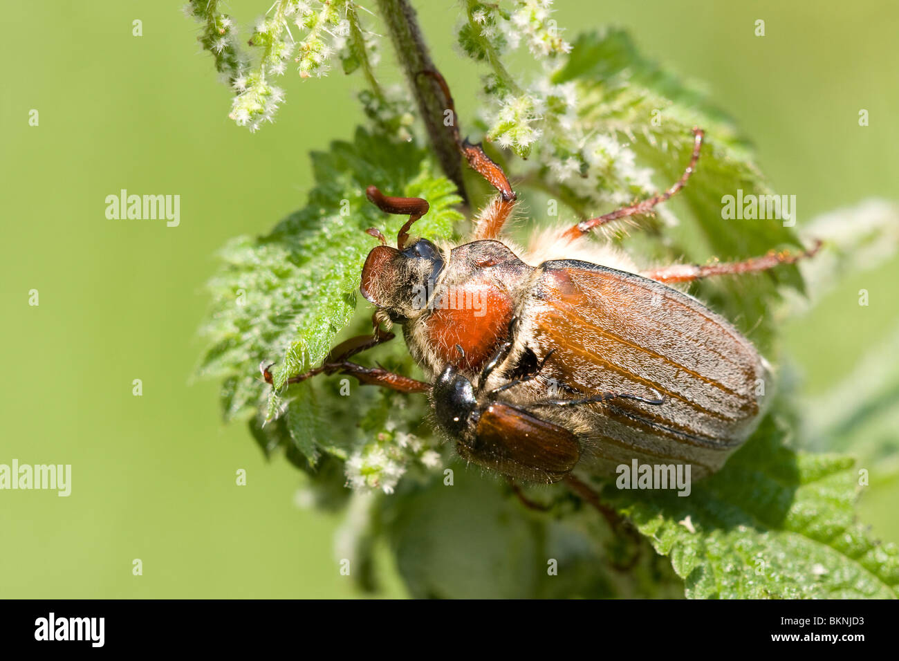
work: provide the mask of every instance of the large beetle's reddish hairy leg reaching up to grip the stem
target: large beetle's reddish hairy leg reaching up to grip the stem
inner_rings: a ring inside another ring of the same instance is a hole
[[[481,147],[480,143],[474,144],[468,142],[467,138],[464,140],[461,138],[456,104],[453,103],[452,94],[449,94],[449,85],[447,85],[446,79],[441,75],[441,72],[427,69],[419,71],[418,75],[431,76],[437,81],[437,85],[440,86],[443,92],[447,110],[451,112],[452,123],[449,125],[449,130],[452,131],[452,136],[456,141],[459,152],[465,157],[468,166],[484,177],[487,183],[500,193],[479,214],[475,224],[475,238],[499,237],[505,221],[512,214],[512,208],[515,206],[517,199],[515,192],[512,190],[512,184],[509,183],[509,178],[503,172],[503,168],[494,163],[493,159],[485,154],[484,148]]]

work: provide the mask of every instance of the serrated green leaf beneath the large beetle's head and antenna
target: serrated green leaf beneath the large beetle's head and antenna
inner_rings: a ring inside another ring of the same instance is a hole
[[[201,329],[208,348],[198,375],[222,378],[226,419],[247,418],[266,406],[268,417],[304,397],[311,413],[289,415],[291,434],[313,463],[312,421],[319,415],[311,390],[291,389],[279,397],[287,378],[325,358],[356,307],[362,264],[376,245],[364,230],[382,228],[396,236],[404,217],[387,216],[365,198],[377,185],[387,193],[419,196],[431,204],[414,231],[448,237],[460,214],[455,186],[434,173],[426,152],[365,130],[352,142],[334,142],[312,155],[316,185],[307,206],[282,220],[270,234],[238,237],[224,248],[225,262],[209,281],[212,305]],[[273,363],[274,389],[259,377],[260,362]],[[301,405],[293,406],[297,411]]]

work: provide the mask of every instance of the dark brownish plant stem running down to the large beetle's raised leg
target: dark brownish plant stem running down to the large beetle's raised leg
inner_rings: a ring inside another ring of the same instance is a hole
[[[467,200],[462,181],[462,157],[452,132],[443,125],[446,103],[440,87],[431,76],[419,76],[421,71],[436,71],[428,47],[424,43],[415,10],[408,0],[378,0],[381,18],[387,24],[390,40],[396,50],[396,60],[403,67],[406,80],[418,102],[424,127],[434,156],[443,173],[456,184],[463,200]]]

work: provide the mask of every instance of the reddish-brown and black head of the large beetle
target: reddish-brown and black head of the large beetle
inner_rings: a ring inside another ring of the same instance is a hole
[[[393,321],[417,317],[427,308],[443,270],[440,248],[425,238],[404,250],[372,248],[362,267],[362,296],[387,311]]]

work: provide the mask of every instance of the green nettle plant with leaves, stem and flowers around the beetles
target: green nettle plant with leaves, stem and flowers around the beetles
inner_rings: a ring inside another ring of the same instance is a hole
[[[421,395],[364,388],[341,374],[288,382],[344,336],[370,332],[360,272],[376,242],[365,230],[393,237],[405,218],[370,204],[369,185],[429,201],[414,231],[432,240],[467,229],[463,221],[490,192],[463,170],[440,87],[420,74],[435,67],[414,11],[406,0],[373,4],[279,0],[243,37],[215,0],[188,5],[234,94],[229,116],[249,130],[273,120],[286,98],[276,85],[282,77],[340,68],[364,78],[368,124],[352,142],[311,155],[307,205],[268,235],[238,237],[222,251],[199,367],[200,376],[223,380],[225,418],[248,422],[267,456],[282,453],[302,470],[316,507],[345,513],[337,556],[351,561],[360,587],[377,588],[374,556],[386,548],[415,596],[666,596],[684,586],[690,597],[895,596],[896,549],[855,521],[865,481],[854,460],[798,449],[799,408],[776,384],[763,384],[768,413],[752,438],[689,497],[597,482],[610,514],[600,516],[590,496],[562,485],[513,487],[467,467],[433,432]],[[589,240],[658,264],[800,246],[780,220],[722,219],[723,195],[770,193],[724,113],[642,58],[624,31],[570,37],[549,5],[462,0],[457,26],[458,48],[483,67],[481,113],[466,118],[463,110],[462,118],[515,182],[530,216],[522,236],[676,181],[699,126],[707,144],[679,197],[634,220],[639,231],[627,242],[627,224]],[[376,33],[389,37],[407,89],[378,81]],[[796,308],[784,294],[793,300],[790,292],[804,291],[796,266],[691,287],[770,359],[777,323]],[[369,353],[361,362],[422,378],[399,340]],[[272,363],[271,385],[261,361]]]

